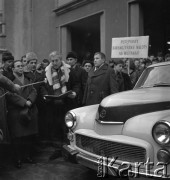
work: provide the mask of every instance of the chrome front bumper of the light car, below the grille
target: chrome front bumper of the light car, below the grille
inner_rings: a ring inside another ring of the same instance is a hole
[[[72,162],[79,163],[83,166],[86,166],[90,169],[96,171],[97,177],[106,177],[108,174],[117,177],[129,177],[129,178],[158,178],[158,179],[168,179],[168,177],[163,177],[161,174],[157,175],[154,173],[154,170],[146,172],[145,169],[137,169],[132,166],[128,166],[128,162],[125,164],[116,163],[115,159],[107,159],[102,156],[91,156],[79,152],[74,149],[71,145],[64,145],[63,149],[68,155],[68,159]]]

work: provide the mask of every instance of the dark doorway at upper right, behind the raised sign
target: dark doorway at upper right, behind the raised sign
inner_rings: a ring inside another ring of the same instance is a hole
[[[170,53],[170,1],[141,0],[144,35],[149,35],[151,54]]]

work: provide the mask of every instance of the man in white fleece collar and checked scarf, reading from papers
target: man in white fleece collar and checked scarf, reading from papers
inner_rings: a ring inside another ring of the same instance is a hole
[[[67,111],[67,84],[69,81],[70,65],[62,61],[59,52],[53,51],[49,55],[50,64],[45,69],[47,78],[47,111],[46,134],[48,140],[55,144],[63,143],[65,134],[64,115]]]

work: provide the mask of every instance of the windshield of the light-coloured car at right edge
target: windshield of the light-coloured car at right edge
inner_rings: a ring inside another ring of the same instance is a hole
[[[147,68],[135,88],[170,87],[170,65]]]

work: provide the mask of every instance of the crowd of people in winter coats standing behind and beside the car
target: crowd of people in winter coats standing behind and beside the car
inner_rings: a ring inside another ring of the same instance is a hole
[[[34,162],[36,140],[66,143],[64,116],[68,110],[98,104],[110,94],[131,90],[147,66],[170,60],[170,54],[165,59],[158,55],[107,61],[104,53],[96,52],[93,60],[80,64],[75,52],[62,59],[53,51],[42,62],[34,52],[20,60],[4,52],[0,65],[0,139],[1,144],[11,143],[15,166]],[[68,91],[68,96],[59,98]]]

